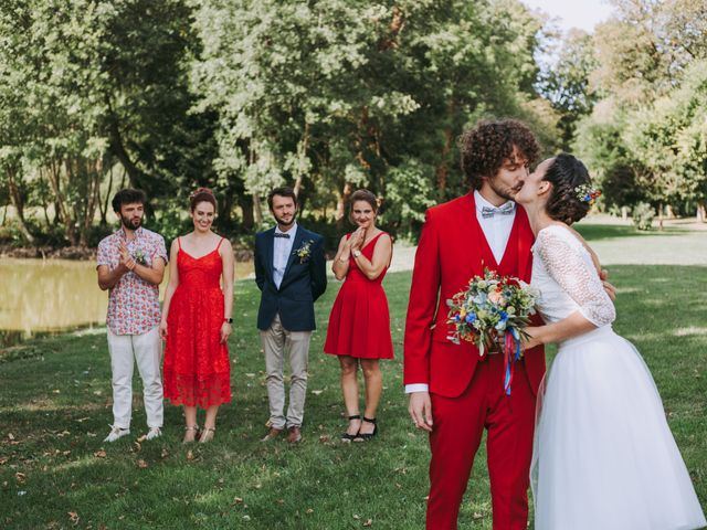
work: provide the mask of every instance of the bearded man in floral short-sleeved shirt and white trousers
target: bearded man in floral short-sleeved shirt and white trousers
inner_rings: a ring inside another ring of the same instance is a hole
[[[98,244],[98,286],[109,289],[106,325],[113,369],[113,425],[104,442],[130,434],[134,358],[143,379],[147,439],[161,434],[159,284],[167,250],[161,235],[140,226],[145,202],[143,191],[118,191],[113,210],[120,219],[120,229]]]

